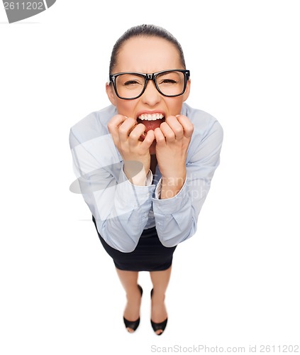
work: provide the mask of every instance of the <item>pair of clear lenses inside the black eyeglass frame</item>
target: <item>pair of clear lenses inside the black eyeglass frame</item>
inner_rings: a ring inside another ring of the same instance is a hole
[[[160,92],[166,96],[176,96],[184,92],[184,73],[162,72],[155,78]],[[116,77],[116,89],[120,97],[126,99],[138,97],[145,87],[145,77],[138,74],[121,74]]]

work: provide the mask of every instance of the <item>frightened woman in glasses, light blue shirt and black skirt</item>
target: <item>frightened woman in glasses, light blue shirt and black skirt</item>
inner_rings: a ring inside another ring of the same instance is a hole
[[[222,128],[184,103],[189,91],[177,40],[157,26],[130,28],[111,53],[111,106],[70,131],[80,192],[126,291],[128,332],[140,322],[139,271],[150,272],[151,324],[164,332],[172,256],[196,232],[219,163]]]

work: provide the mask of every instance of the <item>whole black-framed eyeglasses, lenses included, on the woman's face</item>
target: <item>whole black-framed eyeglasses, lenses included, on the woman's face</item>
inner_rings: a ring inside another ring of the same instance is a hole
[[[153,80],[160,94],[166,97],[177,97],[184,94],[189,80],[189,70],[171,69],[145,74],[143,72],[118,72],[109,75],[109,84],[113,83],[116,95],[120,99],[138,99]]]

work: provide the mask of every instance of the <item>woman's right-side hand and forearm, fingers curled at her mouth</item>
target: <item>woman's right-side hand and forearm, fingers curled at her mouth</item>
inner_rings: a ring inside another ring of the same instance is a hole
[[[187,150],[194,126],[187,116],[168,116],[155,129],[156,158],[162,173],[161,198],[177,195],[186,179]]]

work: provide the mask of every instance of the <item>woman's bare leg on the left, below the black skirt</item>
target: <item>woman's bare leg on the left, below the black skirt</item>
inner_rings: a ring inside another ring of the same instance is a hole
[[[127,305],[124,310],[126,320],[135,322],[140,317],[140,290],[138,289],[138,271],[123,271],[116,268],[118,277],[121,280],[123,288],[126,292]],[[133,329],[127,328],[128,332],[134,332]]]

